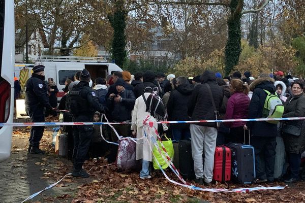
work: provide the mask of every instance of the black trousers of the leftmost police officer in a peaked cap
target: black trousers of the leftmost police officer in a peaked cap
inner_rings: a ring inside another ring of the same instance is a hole
[[[29,111],[31,112],[31,111]],[[45,122],[45,109],[36,108],[34,112],[29,113],[31,121],[36,122]],[[28,142],[33,147],[39,147],[39,143],[43,136],[44,126],[32,126],[31,133],[28,139]]]

